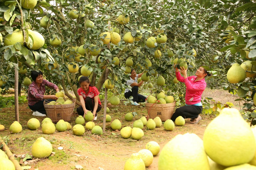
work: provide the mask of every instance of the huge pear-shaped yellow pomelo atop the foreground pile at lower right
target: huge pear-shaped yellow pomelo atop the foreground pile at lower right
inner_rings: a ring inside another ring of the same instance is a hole
[[[235,108],[224,108],[210,122],[204,132],[203,144],[207,155],[223,166],[250,162],[256,149],[250,125]]]

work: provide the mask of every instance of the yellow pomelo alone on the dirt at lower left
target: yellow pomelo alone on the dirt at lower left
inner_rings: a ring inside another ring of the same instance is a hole
[[[35,158],[46,158],[51,155],[52,151],[52,144],[43,137],[37,138],[31,148],[31,153]]]

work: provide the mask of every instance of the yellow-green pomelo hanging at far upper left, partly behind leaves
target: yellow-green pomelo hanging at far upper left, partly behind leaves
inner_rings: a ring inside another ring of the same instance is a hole
[[[23,46],[23,41],[24,41],[23,32],[19,29],[16,29],[13,31],[12,35],[7,34],[4,37],[3,43],[4,43],[4,46],[14,45],[15,43],[20,43],[20,45]]]

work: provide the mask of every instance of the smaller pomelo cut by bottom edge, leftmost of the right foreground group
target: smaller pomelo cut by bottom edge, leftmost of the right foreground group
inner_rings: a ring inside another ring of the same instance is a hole
[[[125,162],[124,170],[145,170],[145,164],[138,153],[131,154],[131,157]]]

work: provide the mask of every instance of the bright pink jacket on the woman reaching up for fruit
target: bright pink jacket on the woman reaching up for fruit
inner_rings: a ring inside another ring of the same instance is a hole
[[[195,81],[196,76],[190,76],[184,79],[184,77],[181,76],[181,73],[178,71],[176,72],[176,78],[180,82],[184,82],[186,85],[186,104],[193,105],[201,102],[202,94],[204,89],[206,88],[206,82],[204,79]]]

